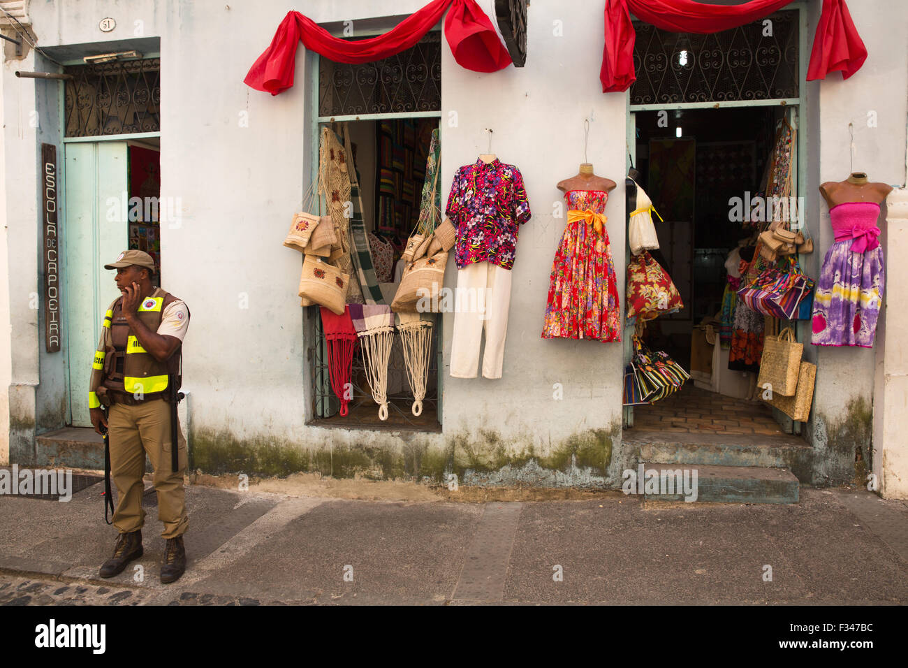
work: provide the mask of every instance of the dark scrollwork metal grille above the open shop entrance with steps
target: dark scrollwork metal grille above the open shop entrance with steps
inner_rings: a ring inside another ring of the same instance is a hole
[[[797,11],[713,35],[635,22],[631,105],[798,97]]]

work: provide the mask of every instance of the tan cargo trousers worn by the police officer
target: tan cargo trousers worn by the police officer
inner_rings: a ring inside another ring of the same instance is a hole
[[[154,399],[134,406],[113,404],[107,414],[110,434],[111,476],[117,491],[114,526],[120,533],[143,527],[142,507],[145,453],[154,469],[153,483],[158,494],[158,519],[164,524],[163,538],[183,535],[189,526],[183,471],[186,469],[186,439],[177,423],[180,470],[171,472],[170,404]]]

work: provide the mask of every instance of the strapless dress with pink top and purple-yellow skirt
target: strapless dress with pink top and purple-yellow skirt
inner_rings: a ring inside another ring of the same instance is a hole
[[[880,205],[846,202],[829,210],[835,242],[826,252],[814,294],[811,343],[873,347],[883,301]]]

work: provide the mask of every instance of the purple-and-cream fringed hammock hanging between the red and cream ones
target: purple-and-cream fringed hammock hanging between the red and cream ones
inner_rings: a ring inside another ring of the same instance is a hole
[[[353,328],[360,337],[362,361],[379,419],[388,419],[388,359],[394,344],[394,314],[383,304],[347,304]]]

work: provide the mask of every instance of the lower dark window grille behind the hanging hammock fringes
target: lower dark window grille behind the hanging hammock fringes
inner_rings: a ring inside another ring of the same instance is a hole
[[[429,377],[426,381],[426,397],[422,400],[422,414],[414,416],[410,410],[413,394],[407,380],[407,367],[404,363],[400,335],[395,332],[394,345],[388,364],[388,420],[379,419],[379,405],[372,399],[369,383],[366,381],[361,347],[358,345],[353,354],[353,368],[350,376],[353,398],[348,405],[349,414],[339,414],[340,402],[331,390],[328,369],[328,350],[324,331],[321,328],[321,317],[317,308],[313,308],[312,322],[314,336],[311,344],[312,386],[314,388],[315,418],[311,424],[344,426],[344,427],[384,427],[388,429],[410,429],[414,431],[440,431],[441,415],[438,392],[439,379],[439,332],[441,318],[436,316],[432,327],[429,353]]]

